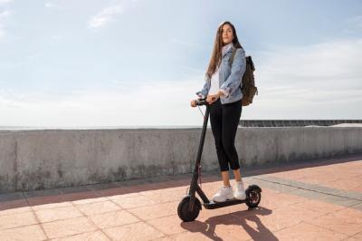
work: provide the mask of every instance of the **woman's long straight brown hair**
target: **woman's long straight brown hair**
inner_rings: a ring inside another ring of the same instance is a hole
[[[216,71],[216,67],[221,63],[222,58],[222,48],[223,48],[223,27],[225,24],[229,24],[233,30],[233,47],[234,48],[242,48],[242,45],[239,43],[239,40],[236,35],[235,27],[229,21],[225,21],[221,23],[216,32],[215,40],[214,40],[214,50],[211,55],[209,67],[207,68],[206,78],[211,79],[211,76]]]

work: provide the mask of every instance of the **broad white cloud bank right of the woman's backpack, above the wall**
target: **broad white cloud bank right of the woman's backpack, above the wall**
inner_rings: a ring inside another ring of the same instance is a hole
[[[281,47],[255,59],[260,95],[245,108],[247,119],[362,118],[362,39]]]

